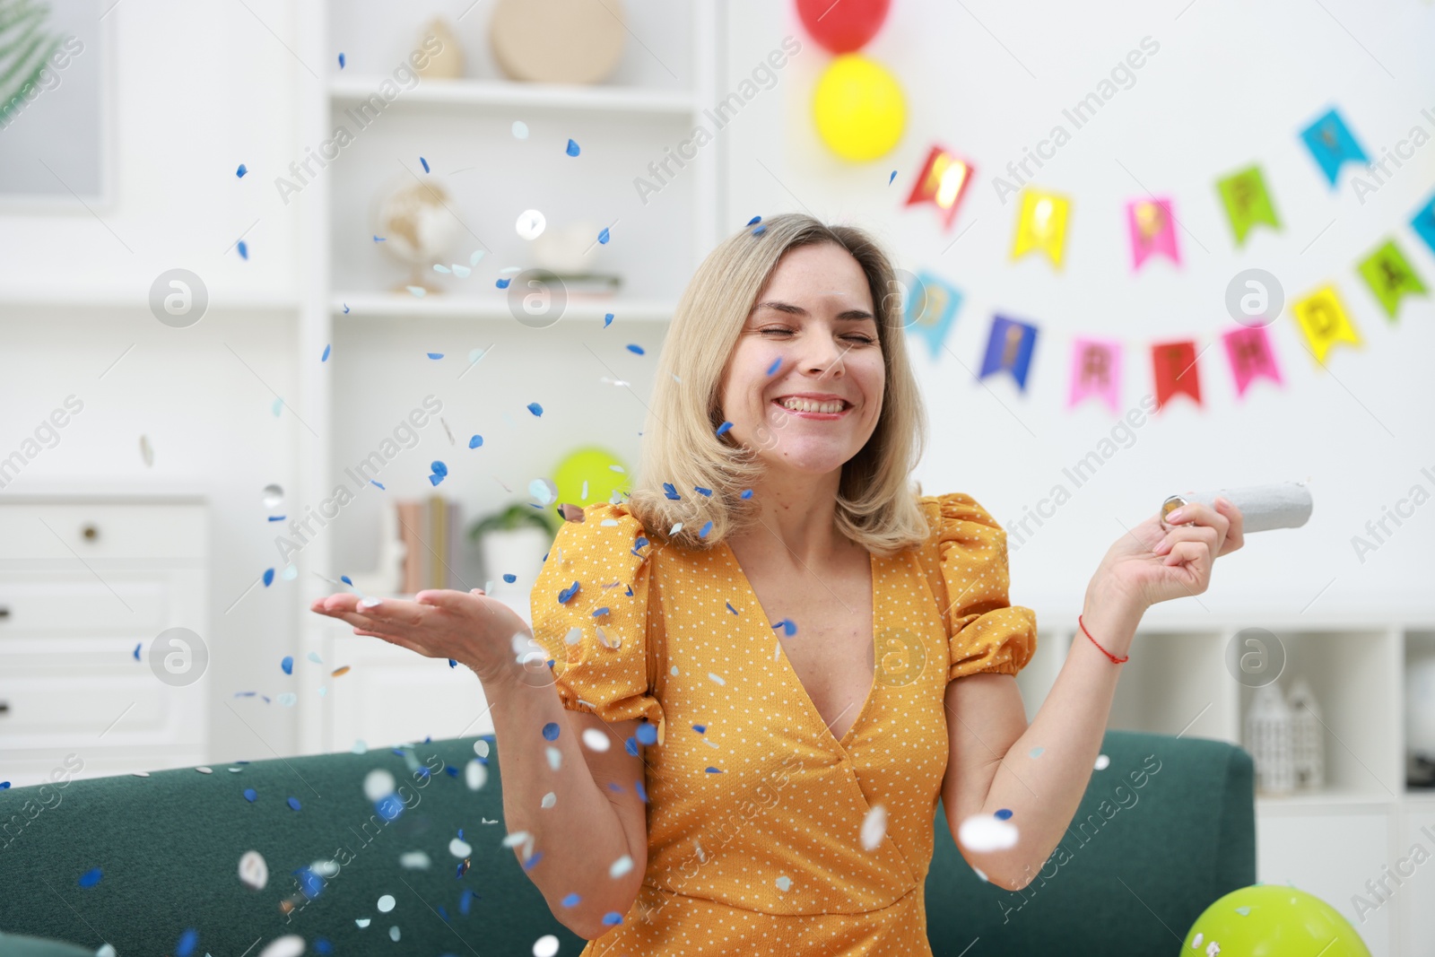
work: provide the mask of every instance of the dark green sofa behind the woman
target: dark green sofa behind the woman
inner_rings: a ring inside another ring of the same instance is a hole
[[[466,786],[476,740],[0,791],[0,956],[93,954],[108,941],[119,957],[258,957],[297,934],[306,954],[488,957],[531,954],[554,934],[571,957],[584,941],[501,845],[497,745],[486,783]],[[1104,753],[1068,838],[1020,892],[983,882],[937,826],[926,892],[938,957],[1175,954],[1211,901],[1256,881],[1244,750],[1108,732]],[[376,768],[405,796],[390,799],[392,819],[364,796]],[[459,829],[472,847],[462,875],[449,849]],[[264,890],[240,877],[251,849],[267,861]]]

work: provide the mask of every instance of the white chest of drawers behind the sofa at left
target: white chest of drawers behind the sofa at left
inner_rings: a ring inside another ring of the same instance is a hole
[[[202,759],[208,527],[197,495],[0,499],[0,781]]]

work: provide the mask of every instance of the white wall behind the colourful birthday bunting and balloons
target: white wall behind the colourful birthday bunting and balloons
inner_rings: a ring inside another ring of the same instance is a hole
[[[931,362],[926,343],[913,343],[934,422],[917,478],[927,492],[974,495],[1003,524],[1020,519],[1058,482],[1073,491],[1045,527],[1029,525],[1036,534],[1012,554],[1013,598],[1039,616],[1075,616],[1121,524],[1135,524],[1168,494],[1307,478],[1314,512],[1303,529],[1250,539],[1220,562],[1201,604],[1168,607],[1380,617],[1393,607],[1429,608],[1435,506],[1416,511],[1363,565],[1350,537],[1413,484],[1435,492],[1419,473],[1435,466],[1426,412],[1435,385],[1425,373],[1435,310],[1429,298],[1406,300],[1399,321],[1389,323],[1355,271],[1359,257],[1393,234],[1426,284],[1435,283],[1435,258],[1406,225],[1429,198],[1435,145],[1362,205],[1350,185],[1355,168],[1332,191],[1299,131],[1336,105],[1372,155],[1412,125],[1435,132],[1421,115],[1435,106],[1435,59],[1425,43],[1432,11],[1405,1],[1323,7],[895,3],[864,53],[905,90],[907,131],[891,155],[861,165],[829,154],[808,119],[829,55],[802,32],[792,4],[726,7],[728,89],[788,33],[804,52],[778,89],[723,131],[723,221],[736,228],[755,214],[806,208],[861,224],[887,240],[903,265],[930,268],[964,293],[947,340],[954,354]],[[1062,109],[1145,36],[1159,52],[1137,82],[1073,129]],[[1017,202],[997,199],[993,176],[1059,122],[1072,139],[1035,179],[1073,199],[1066,264],[1055,271],[1039,254],[1009,261]],[[903,205],[933,143],[977,168],[950,234],[931,207]],[[1251,162],[1266,175],[1283,228],[1257,230],[1236,248],[1214,184]],[[1142,187],[1174,197],[1184,227],[1180,268],[1155,260],[1129,271],[1125,202],[1145,195]],[[1287,308],[1270,329],[1286,386],[1260,382],[1237,400],[1217,343],[1200,359],[1204,407],[1175,399],[1129,449],[1075,488],[1062,469],[1095,449],[1114,419],[1095,400],[1065,409],[1072,336],[1125,343],[1121,395],[1129,409],[1154,387],[1149,343],[1191,337],[1201,349],[1234,326],[1224,290],[1247,267],[1274,273],[1287,303],[1335,281],[1365,346],[1337,349],[1322,370]],[[993,313],[1040,327],[1025,395],[1009,376],[973,380]]]

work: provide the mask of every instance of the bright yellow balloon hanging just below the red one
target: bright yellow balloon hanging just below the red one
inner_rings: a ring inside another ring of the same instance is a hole
[[[907,105],[897,79],[861,53],[832,60],[812,98],[817,131],[832,152],[857,162],[877,159],[901,139]]]

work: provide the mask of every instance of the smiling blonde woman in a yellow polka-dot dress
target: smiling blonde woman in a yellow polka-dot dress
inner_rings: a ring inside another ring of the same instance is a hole
[[[564,522],[544,561],[545,680],[481,590],[314,603],[478,673],[508,832],[585,954],[930,954],[937,798],[953,834],[1012,812],[1013,847],[959,847],[1025,887],[1086,789],[1142,611],[1241,544],[1224,499],[1122,535],[1086,590],[1091,640],[1027,726],[1013,676],[1036,620],[1007,603],[1004,532],[910,482],[926,423],[891,264],[855,228],[762,227],[679,303],[630,499]]]

